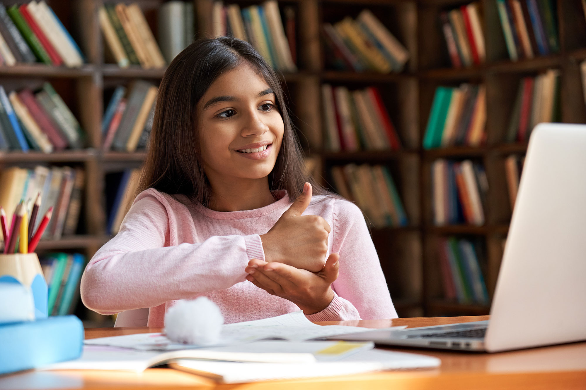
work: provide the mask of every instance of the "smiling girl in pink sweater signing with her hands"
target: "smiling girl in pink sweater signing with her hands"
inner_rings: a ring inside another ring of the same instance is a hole
[[[81,279],[88,308],[154,327],[202,295],[226,323],[397,317],[362,212],[307,177],[277,75],[229,37],[169,65],[141,192]]]

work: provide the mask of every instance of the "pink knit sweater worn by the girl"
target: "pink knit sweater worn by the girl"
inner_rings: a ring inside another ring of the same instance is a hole
[[[120,232],[91,259],[81,278],[81,299],[102,314],[150,308],[148,326],[164,326],[165,309],[178,299],[207,296],[226,323],[278,316],[299,308],[246,280],[252,258],[264,260],[259,234],[267,233],[291,205],[280,200],[260,209],[218,212],[188,207],[147,189],[135,199]],[[362,212],[353,203],[314,196],[304,215],[332,227],[329,253],[340,254],[330,305],[312,321],[396,318],[389,289]]]

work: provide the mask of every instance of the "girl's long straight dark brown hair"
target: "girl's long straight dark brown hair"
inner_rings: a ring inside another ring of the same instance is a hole
[[[196,105],[220,74],[243,63],[251,65],[274,91],[285,125],[281,150],[268,175],[271,191],[285,189],[293,201],[301,194],[304,182],[309,182],[314,195],[331,195],[305,170],[279,78],[253,46],[233,37],[197,40],[169,64],[156,97],[137,194],[155,188],[169,195],[183,194],[198,205],[209,205],[211,189],[201,160]]]

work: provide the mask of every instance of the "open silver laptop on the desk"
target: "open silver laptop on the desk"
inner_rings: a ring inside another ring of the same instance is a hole
[[[586,125],[533,130],[490,321],[336,339],[488,352],[586,340]]]

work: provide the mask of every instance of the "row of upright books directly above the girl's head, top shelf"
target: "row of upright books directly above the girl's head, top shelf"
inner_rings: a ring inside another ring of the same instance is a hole
[[[222,1],[214,1],[211,15],[213,36],[230,35],[246,40],[273,68],[286,72],[297,71],[294,60],[295,10],[286,7],[284,11],[285,26],[275,0],[243,9],[237,4],[224,6]]]

